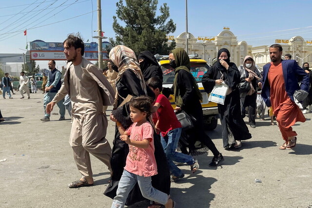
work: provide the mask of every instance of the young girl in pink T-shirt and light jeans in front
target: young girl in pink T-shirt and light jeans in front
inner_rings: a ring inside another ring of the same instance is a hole
[[[111,115],[111,120],[117,122],[120,140],[129,144],[129,154],[126,166],[118,184],[117,196],[113,200],[112,208],[123,208],[129,192],[138,183],[143,197],[165,206],[174,208],[175,202],[169,196],[152,186],[151,176],[157,174],[154,156],[154,129],[147,121],[151,115],[153,100],[146,96],[134,97],[130,101],[130,118],[133,124],[123,129],[121,124]],[[129,138],[130,136],[130,138]]]

